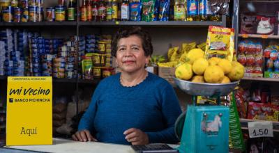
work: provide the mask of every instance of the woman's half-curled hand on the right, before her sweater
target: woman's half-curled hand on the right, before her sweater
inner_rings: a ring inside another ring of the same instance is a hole
[[[149,143],[149,137],[140,129],[130,128],[124,131],[125,139],[132,145],[146,145]]]

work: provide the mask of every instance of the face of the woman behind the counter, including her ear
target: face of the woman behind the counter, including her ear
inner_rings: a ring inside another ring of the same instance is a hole
[[[142,40],[137,35],[121,38],[117,45],[116,60],[122,72],[137,72],[144,70],[149,56],[144,55]]]

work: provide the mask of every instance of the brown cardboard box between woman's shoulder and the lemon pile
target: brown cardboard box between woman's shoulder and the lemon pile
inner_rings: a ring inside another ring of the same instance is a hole
[[[175,67],[159,67],[158,75],[159,77],[166,79],[172,86],[176,86],[174,83]]]

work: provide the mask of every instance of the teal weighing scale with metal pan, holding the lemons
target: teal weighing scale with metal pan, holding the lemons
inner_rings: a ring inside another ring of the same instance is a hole
[[[193,105],[176,120],[176,136],[181,138],[177,150],[190,152],[229,152],[229,107],[220,106],[220,96],[232,92],[232,83],[193,83],[174,78],[183,92],[192,95]],[[196,105],[197,96],[216,97],[217,105]]]

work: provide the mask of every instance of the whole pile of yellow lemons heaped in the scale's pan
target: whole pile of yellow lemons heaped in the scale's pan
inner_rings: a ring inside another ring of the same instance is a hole
[[[192,49],[186,63],[176,67],[176,78],[198,83],[229,83],[243,78],[245,68],[241,63],[221,58],[204,58],[202,49]]]

